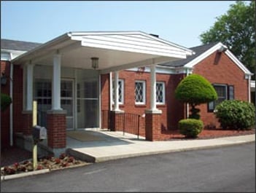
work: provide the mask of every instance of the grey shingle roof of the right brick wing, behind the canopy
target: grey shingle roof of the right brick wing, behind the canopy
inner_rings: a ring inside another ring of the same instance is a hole
[[[209,50],[211,47],[216,45],[218,42],[205,44],[197,47],[190,47],[190,50],[193,50],[195,52],[195,55],[189,55],[186,59],[177,60],[173,62],[168,63],[161,63],[160,66],[171,66],[171,67],[179,67],[179,66],[185,66],[186,63],[189,63],[191,60],[197,58],[199,55],[201,55],[203,52],[206,52],[206,50]]]

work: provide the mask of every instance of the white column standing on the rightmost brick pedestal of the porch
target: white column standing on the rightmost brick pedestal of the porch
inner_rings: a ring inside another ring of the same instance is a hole
[[[150,110],[157,111],[156,108],[156,77],[155,77],[155,65],[150,66]]]

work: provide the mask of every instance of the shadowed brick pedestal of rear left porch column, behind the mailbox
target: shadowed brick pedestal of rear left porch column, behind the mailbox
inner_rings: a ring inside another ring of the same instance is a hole
[[[33,127],[33,114],[32,111],[23,111],[22,112],[23,122],[22,122],[22,133],[23,135],[32,135]]]

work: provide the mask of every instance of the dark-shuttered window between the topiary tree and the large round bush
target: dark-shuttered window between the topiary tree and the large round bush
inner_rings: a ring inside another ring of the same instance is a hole
[[[209,111],[214,111],[215,107],[225,100],[233,100],[234,97],[234,87],[227,84],[213,84],[214,89],[217,92],[217,100],[208,103]]]

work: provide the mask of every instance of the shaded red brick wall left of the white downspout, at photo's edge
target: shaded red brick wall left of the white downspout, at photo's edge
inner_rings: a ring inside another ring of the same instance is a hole
[[[1,61],[0,74],[7,76],[7,84],[1,85],[1,93],[9,95],[9,61]],[[5,111],[1,111],[1,149],[9,147],[9,107]]]

